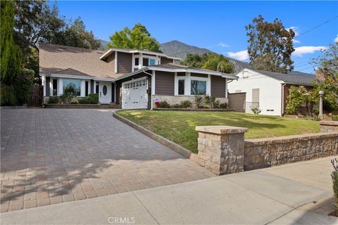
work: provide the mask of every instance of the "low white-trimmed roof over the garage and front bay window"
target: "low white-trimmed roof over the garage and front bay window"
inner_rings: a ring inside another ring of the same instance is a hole
[[[137,75],[139,72],[144,72],[146,70],[165,71],[165,72],[195,72],[195,73],[201,73],[201,74],[205,74],[205,75],[215,75],[215,76],[225,77],[225,78],[228,78],[228,79],[238,79],[238,77],[236,77],[234,75],[230,75],[230,74],[223,73],[223,72],[217,72],[217,71],[214,71],[214,70],[205,70],[205,69],[201,69],[201,68],[189,67],[187,65],[165,63],[165,64],[161,64],[161,65],[146,66],[145,68],[142,68],[140,70],[130,72],[126,75],[120,76],[120,77],[116,78],[115,80],[123,79],[125,77],[130,77],[132,75]]]

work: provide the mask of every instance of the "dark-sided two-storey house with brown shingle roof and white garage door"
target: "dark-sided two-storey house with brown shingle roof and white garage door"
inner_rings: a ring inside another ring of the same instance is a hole
[[[150,109],[156,101],[193,101],[194,95],[215,96],[227,103],[227,82],[237,77],[178,65],[174,60],[180,59],[146,50],[98,51],[40,44],[44,102],[71,87],[77,97],[99,94],[101,104],[124,109]]]

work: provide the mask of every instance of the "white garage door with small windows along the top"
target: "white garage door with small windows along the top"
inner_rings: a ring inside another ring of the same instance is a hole
[[[146,79],[123,83],[122,108],[148,108],[148,94]]]

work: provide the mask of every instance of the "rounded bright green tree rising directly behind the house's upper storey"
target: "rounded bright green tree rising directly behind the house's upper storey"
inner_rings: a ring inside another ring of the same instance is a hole
[[[144,25],[137,23],[130,28],[125,27],[123,30],[115,32],[111,37],[111,41],[107,44],[108,48],[120,49],[140,49],[155,52],[162,52],[160,43],[151,37]]]

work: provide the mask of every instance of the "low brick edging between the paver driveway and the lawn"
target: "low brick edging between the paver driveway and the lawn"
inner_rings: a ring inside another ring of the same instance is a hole
[[[159,143],[163,144],[163,146],[166,146],[170,148],[171,150],[174,150],[175,152],[179,153],[180,155],[183,155],[184,157],[188,158],[189,160],[192,160],[193,162],[198,163],[199,157],[196,153],[192,153],[190,150],[187,150],[187,148],[183,148],[180,145],[177,145],[177,143],[174,143],[173,141],[170,141],[168,139],[163,138],[163,136],[160,136],[158,134],[155,134],[153,131],[149,131],[149,129],[146,129],[139,124],[136,124],[130,120],[127,120],[125,117],[122,117],[118,115],[119,110],[116,110],[113,112],[113,117],[120,120],[121,122],[124,122],[125,124],[128,124],[130,127],[136,129],[137,131],[140,131],[142,134],[149,136],[149,138],[154,139],[155,141],[158,141]]]

